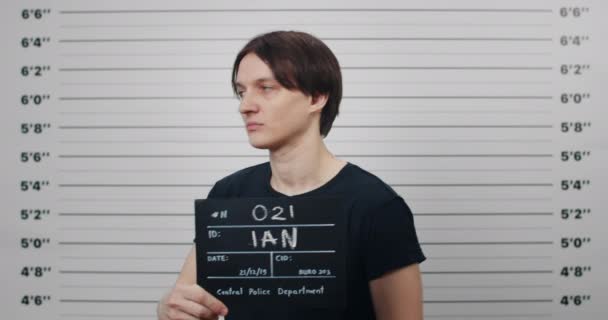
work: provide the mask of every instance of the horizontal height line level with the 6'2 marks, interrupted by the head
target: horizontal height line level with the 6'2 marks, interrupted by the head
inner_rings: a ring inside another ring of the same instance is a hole
[[[496,67],[496,66],[460,66],[460,67],[408,67],[408,66],[367,66],[340,67],[343,70],[553,70],[552,67]],[[170,70],[231,70],[229,67],[140,67],[140,68],[59,68],[59,71],[170,71]]]

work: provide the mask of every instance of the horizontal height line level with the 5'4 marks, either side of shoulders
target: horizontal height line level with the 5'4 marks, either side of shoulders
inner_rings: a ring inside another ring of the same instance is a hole
[[[396,183],[391,187],[553,187],[553,183]],[[60,183],[61,188],[191,188],[213,184]]]

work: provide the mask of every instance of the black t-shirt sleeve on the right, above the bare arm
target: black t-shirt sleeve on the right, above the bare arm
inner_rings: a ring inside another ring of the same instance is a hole
[[[426,260],[418,242],[414,216],[402,197],[396,196],[370,213],[364,246],[368,281]]]

